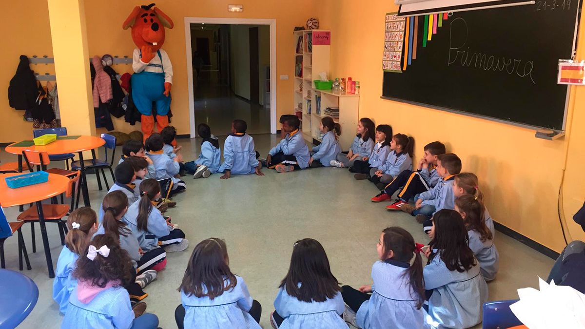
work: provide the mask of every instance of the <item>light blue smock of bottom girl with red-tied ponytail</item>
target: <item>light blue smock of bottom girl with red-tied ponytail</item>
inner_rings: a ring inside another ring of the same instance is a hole
[[[408,263],[377,261],[371,268],[372,294],[357,311],[363,329],[424,327],[425,311],[417,309],[418,295],[409,283]]]

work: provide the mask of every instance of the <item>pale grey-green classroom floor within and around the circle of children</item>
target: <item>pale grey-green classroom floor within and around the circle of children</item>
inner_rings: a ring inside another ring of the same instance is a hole
[[[221,145],[223,140],[221,138]],[[256,135],[256,148],[264,157],[277,135]],[[180,139],[185,160],[198,154],[199,139]],[[14,160],[5,152],[0,160]],[[371,265],[376,261],[376,242],[380,231],[398,225],[408,229],[415,240],[428,242],[421,225],[405,213],[391,213],[386,204],[374,204],[370,197],[376,187],[367,180],[355,181],[353,174],[337,168],[319,168],[278,174],[263,170],[264,177],[232,176],[220,180],[219,174],[208,179],[187,181],[187,191],[174,197],[176,208],[167,215],[180,225],[190,241],[187,251],[168,253],[167,268],[155,282],[146,287],[150,294],[144,301],[147,311],[159,316],[160,327],[176,328],[174,310],[181,302],[177,292],[193,246],[209,237],[225,239],[230,268],[242,276],[263,312],[260,324],[270,328],[269,314],[278,284],[288,269],[292,244],[297,239],[315,238],[324,245],[333,274],[343,285],[371,284]],[[98,191],[95,176],[90,177],[92,208],[97,209],[106,191]],[[9,221],[18,215],[18,208],[5,209]],[[494,218],[495,221],[498,218]],[[53,263],[63,248],[59,244],[56,225],[47,225]],[[39,286],[39,301],[22,328],[59,328],[62,316],[51,299],[53,280],[47,275],[40,234],[37,252],[31,252],[30,229],[23,228],[33,269],[22,273]],[[37,232],[38,226],[37,226]],[[495,244],[500,252],[500,272],[488,283],[490,300],[515,299],[516,290],[537,287],[537,276],[546,278],[553,260],[514,239],[496,232]],[[16,238],[5,244],[7,268],[18,270]],[[478,325],[477,328],[480,328]]]

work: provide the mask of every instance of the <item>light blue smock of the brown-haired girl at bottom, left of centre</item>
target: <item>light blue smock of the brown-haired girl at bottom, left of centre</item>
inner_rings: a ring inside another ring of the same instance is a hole
[[[185,328],[200,329],[261,329],[248,313],[252,307],[252,297],[242,277],[236,276],[238,283],[233,289],[223,292],[214,299],[209,297],[187,296],[181,291],[181,302],[185,307]],[[204,289],[207,292],[207,289]]]

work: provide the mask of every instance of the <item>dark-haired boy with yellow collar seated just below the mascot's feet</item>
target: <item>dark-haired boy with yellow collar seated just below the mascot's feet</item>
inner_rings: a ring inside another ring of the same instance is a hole
[[[176,157],[171,159],[164,154],[163,146],[164,140],[160,133],[155,132],[146,140],[148,155],[152,159],[154,168],[156,169],[155,179],[161,183],[160,189],[163,197],[170,198],[174,194],[181,193],[187,189],[185,182],[176,177],[180,171],[179,163],[183,162],[183,155],[178,153]],[[168,179],[171,180],[171,184],[168,184],[168,181],[164,181]]]

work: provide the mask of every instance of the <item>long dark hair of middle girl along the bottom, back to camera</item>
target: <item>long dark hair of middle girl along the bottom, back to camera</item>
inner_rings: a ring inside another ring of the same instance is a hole
[[[295,242],[288,273],[278,287],[284,287],[290,296],[307,303],[332,299],[341,291],[339,281],[331,273],[325,249],[315,239]]]

